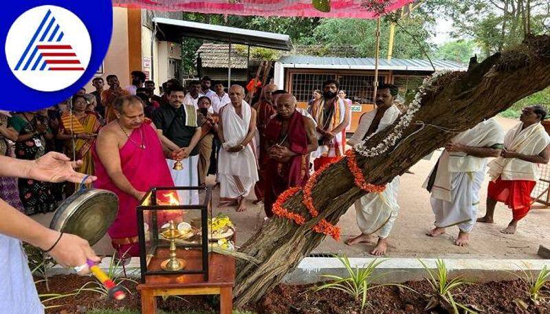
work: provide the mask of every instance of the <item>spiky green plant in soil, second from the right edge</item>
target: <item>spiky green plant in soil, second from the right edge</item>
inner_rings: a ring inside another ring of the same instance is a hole
[[[441,308],[448,311],[448,313],[459,314],[459,309],[462,309],[465,313],[476,313],[475,311],[468,309],[464,304],[454,300],[454,296],[456,296],[454,291],[459,289],[461,286],[472,284],[471,282],[467,282],[461,276],[450,279],[449,271],[443,260],[438,259],[435,262],[437,267],[435,271],[430,270],[421,260],[419,260],[419,262],[422,264],[422,267],[424,267],[428,275],[430,275],[428,282],[430,282],[430,286],[432,287],[432,294],[428,295],[430,301],[426,306],[426,311],[430,311],[437,308],[437,306],[441,306]]]

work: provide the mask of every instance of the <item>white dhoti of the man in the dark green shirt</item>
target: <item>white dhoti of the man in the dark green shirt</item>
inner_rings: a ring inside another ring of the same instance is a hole
[[[170,175],[174,180],[175,186],[199,186],[199,155],[189,156],[181,161],[184,168],[174,170],[175,160],[166,159]],[[199,205],[198,190],[179,190],[177,191],[180,205]]]

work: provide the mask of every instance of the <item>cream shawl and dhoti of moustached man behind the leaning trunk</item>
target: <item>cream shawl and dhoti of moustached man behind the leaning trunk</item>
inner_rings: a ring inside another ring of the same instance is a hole
[[[349,145],[355,145],[362,141],[369,127],[373,122],[377,109],[365,113],[360,121],[357,131],[349,139]],[[391,106],[386,109],[380,124],[375,133],[391,126],[399,117],[397,106]],[[380,238],[387,238],[395,224],[395,219],[399,213],[399,204],[397,203],[397,192],[399,191],[399,177],[386,184],[386,190],[382,193],[369,193],[355,201],[355,212],[357,225],[362,234],[378,233]]]

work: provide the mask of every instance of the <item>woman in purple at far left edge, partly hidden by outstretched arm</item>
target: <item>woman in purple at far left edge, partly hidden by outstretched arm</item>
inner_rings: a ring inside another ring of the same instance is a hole
[[[19,133],[10,124],[8,113],[0,112],[0,156],[15,157],[13,148],[18,136]],[[0,199],[23,212],[16,178],[0,177]]]

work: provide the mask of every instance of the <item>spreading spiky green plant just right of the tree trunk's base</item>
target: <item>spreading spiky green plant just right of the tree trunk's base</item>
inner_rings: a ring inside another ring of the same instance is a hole
[[[375,287],[382,287],[390,284],[373,284],[375,280],[385,276],[387,273],[381,273],[378,276],[373,276],[374,270],[378,265],[382,264],[384,260],[377,261],[377,259],[371,261],[369,265],[363,265],[363,267],[355,267],[353,269],[349,262],[349,258],[344,254],[343,256],[334,256],[340,260],[342,265],[346,267],[348,272],[348,277],[340,277],[334,275],[322,275],[321,277],[332,279],[332,282],[323,284],[320,287],[314,288],[314,291],[320,291],[323,289],[336,289],[344,291],[345,293],[351,295],[355,301],[361,302],[361,309],[367,304],[367,292]],[[399,284],[399,287],[404,287]],[[405,287],[408,288],[408,287]]]

